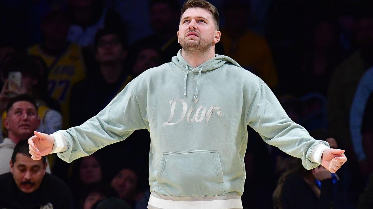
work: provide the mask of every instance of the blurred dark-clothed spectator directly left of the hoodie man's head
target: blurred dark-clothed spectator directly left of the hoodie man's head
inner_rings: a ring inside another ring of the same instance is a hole
[[[180,5],[176,0],[151,0],[149,13],[153,34],[136,41],[132,48],[154,45],[162,52],[162,63],[170,62],[181,49],[175,33],[179,26]]]

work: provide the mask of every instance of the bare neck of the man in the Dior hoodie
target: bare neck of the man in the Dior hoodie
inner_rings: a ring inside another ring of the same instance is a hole
[[[181,49],[181,56],[192,65],[194,68],[200,66],[201,64],[205,63],[207,60],[215,57],[215,48],[211,47],[206,52],[187,52],[184,49]]]

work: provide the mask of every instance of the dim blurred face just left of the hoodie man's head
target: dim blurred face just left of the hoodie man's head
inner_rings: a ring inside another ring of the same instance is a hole
[[[164,33],[166,29],[176,26],[174,24],[177,24],[177,17],[178,13],[167,3],[155,3],[150,7],[150,25],[156,32]]]

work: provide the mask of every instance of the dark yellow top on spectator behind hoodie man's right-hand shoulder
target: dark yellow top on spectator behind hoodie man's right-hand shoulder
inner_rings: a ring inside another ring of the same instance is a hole
[[[269,87],[277,86],[278,75],[266,39],[247,31],[237,42],[233,42],[224,29],[221,32],[220,42],[223,44],[225,55],[233,58],[245,69],[250,68]]]

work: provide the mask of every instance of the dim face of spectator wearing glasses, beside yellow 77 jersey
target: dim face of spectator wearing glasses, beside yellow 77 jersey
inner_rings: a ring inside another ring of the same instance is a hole
[[[96,60],[99,63],[121,61],[127,55],[120,39],[115,34],[107,34],[98,40]]]

